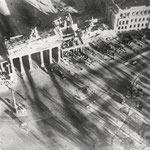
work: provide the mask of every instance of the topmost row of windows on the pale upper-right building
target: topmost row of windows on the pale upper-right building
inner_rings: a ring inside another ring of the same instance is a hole
[[[132,14],[132,16],[138,16],[138,15],[148,15],[150,14],[150,10],[143,10],[143,11],[135,11],[135,12],[127,12],[127,13],[121,13],[120,14],[120,17],[121,18],[126,18],[126,17],[129,17],[129,15]]]

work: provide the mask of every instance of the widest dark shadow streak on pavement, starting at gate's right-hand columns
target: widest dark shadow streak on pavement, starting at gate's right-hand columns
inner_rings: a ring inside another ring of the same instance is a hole
[[[93,146],[93,143],[95,142],[95,138],[92,137],[92,134],[94,134],[97,139],[101,139],[100,137],[103,136],[103,142],[107,142],[107,135],[105,134],[105,131],[100,131],[98,127],[88,119],[87,116],[85,116],[79,109],[77,109],[77,100],[72,95],[69,95],[61,87],[53,73],[49,72],[49,75],[53,80],[54,86],[59,92],[63,102],[63,108],[67,118],[69,119],[69,122],[79,132],[79,134],[76,135],[76,138],[79,139],[81,143],[88,146]]]

